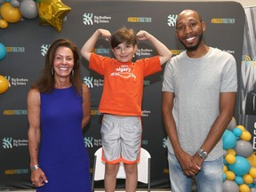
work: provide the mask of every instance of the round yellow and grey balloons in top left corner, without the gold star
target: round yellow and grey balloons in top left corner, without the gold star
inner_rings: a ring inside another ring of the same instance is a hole
[[[35,19],[38,11],[33,0],[0,0],[0,14],[0,28],[7,28],[8,23],[16,23],[22,17]]]

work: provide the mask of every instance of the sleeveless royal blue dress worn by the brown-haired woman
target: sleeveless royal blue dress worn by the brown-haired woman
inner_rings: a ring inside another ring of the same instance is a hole
[[[90,160],[82,133],[83,99],[75,88],[40,93],[39,164],[48,183],[37,192],[91,192]]]

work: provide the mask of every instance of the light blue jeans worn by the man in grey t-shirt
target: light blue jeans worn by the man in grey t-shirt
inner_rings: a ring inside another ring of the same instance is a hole
[[[172,153],[168,152],[169,176],[172,192],[191,192],[192,177],[183,174],[180,164]],[[198,192],[222,192],[223,157],[204,161],[196,177]]]

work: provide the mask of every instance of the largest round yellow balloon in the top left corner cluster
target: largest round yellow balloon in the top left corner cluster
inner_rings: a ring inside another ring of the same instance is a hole
[[[21,18],[21,13],[19,8],[12,7],[12,4],[5,2],[1,6],[1,15],[7,22],[15,23]]]

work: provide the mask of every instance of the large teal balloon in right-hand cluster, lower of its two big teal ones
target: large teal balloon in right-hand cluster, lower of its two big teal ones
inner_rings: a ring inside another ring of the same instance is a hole
[[[234,172],[238,176],[243,176],[250,171],[251,164],[244,156],[236,156],[234,164],[228,164],[228,170]]]

